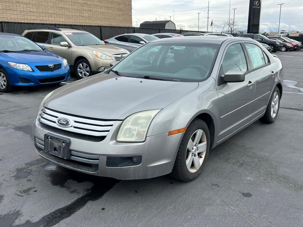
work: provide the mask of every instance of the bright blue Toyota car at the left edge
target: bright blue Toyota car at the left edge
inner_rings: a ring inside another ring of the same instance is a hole
[[[0,33],[0,92],[70,79],[66,59],[21,35]]]

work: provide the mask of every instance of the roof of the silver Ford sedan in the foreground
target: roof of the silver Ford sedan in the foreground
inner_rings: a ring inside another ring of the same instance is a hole
[[[221,44],[226,40],[243,41],[250,38],[246,37],[221,37],[221,36],[180,36],[173,39],[157,39],[151,42],[191,42],[191,43],[211,43]],[[252,39],[250,39],[252,40]]]

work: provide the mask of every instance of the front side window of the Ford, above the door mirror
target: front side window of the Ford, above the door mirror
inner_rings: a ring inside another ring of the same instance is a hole
[[[243,72],[248,70],[245,55],[240,43],[231,45],[225,52],[220,67],[220,75],[225,74],[229,70]]]

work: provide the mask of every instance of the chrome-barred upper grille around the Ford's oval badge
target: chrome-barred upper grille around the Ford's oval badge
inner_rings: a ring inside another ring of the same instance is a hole
[[[63,128],[56,124],[58,117],[64,117],[70,120],[71,127]],[[65,130],[72,133],[84,134],[94,137],[106,137],[112,128],[115,120],[92,119],[76,116],[68,113],[62,113],[47,107],[42,108],[39,121],[57,129]]]

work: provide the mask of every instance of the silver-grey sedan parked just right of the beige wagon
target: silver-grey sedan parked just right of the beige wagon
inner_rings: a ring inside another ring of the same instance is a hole
[[[124,35],[117,35],[113,38],[104,40],[105,44],[113,45],[115,47],[120,47],[129,52],[141,47],[143,44],[150,41],[159,39],[153,35],[141,34],[141,33],[131,33]]]

